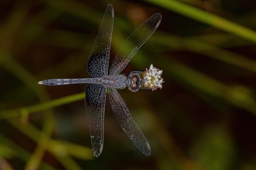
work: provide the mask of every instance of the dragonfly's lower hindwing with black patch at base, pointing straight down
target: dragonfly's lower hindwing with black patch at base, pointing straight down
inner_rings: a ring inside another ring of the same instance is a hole
[[[105,104],[106,88],[101,84],[88,84],[85,90],[85,113],[95,157],[101,155],[103,149]]]

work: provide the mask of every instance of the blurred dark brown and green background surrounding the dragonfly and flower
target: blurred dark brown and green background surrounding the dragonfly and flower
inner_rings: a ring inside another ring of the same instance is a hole
[[[88,55],[108,3],[115,9],[110,64],[148,17],[158,29],[123,73],[163,70],[162,90],[120,90],[151,146],[144,156],[106,101],[105,140],[92,155]],[[254,0],[1,0],[1,170],[256,169],[256,4]]]

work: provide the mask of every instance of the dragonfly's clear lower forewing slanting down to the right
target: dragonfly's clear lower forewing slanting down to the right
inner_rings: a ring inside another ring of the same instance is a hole
[[[124,100],[116,89],[111,88],[110,90],[111,91],[108,92],[110,104],[118,123],[132,140],[133,144],[135,144],[144,155],[149,156],[151,149],[148,141],[133,120]]]

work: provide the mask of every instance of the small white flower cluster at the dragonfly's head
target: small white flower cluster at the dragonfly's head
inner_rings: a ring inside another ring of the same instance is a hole
[[[151,64],[149,69],[146,68],[146,71],[143,73],[143,87],[149,88],[152,91],[157,88],[162,89],[162,83],[164,82],[163,77],[161,77],[162,73],[162,70],[159,70],[159,68],[156,68]]]

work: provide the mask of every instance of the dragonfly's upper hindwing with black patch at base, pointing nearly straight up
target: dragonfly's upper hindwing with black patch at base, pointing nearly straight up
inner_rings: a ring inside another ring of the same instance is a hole
[[[114,9],[112,4],[108,4],[88,58],[87,70],[92,77],[108,75],[113,22]]]

